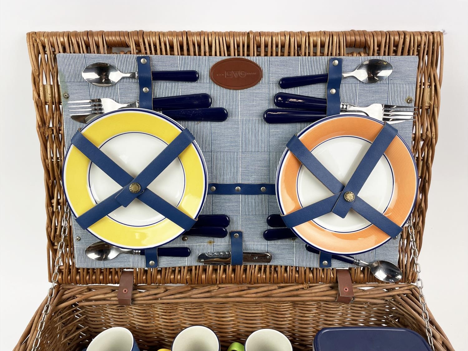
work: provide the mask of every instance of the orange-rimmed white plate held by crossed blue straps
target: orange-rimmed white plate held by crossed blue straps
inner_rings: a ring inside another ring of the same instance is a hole
[[[344,185],[350,180],[382,122],[357,115],[339,115],[311,124],[298,137]],[[399,226],[413,210],[417,168],[400,136],[395,137],[359,192],[359,197]],[[277,173],[276,194],[282,214],[294,212],[331,195],[295,156],[286,150]],[[390,237],[351,210],[340,218],[327,213],[292,230],[307,244],[336,254],[356,254],[382,245]]]

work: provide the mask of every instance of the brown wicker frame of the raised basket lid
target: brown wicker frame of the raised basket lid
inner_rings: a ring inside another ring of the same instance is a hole
[[[416,101],[418,109],[413,153],[419,176],[419,196],[413,213],[417,245],[422,244],[431,165],[438,134],[443,37],[440,32],[351,30],[346,32],[146,32],[84,31],[30,32],[27,35],[32,65],[33,100],[41,145],[46,190],[48,260],[57,255],[63,216],[61,167],[64,155],[58,69],[55,54],[131,53],[199,56],[354,56],[416,55],[419,57]],[[122,49],[124,48],[124,50]],[[402,233],[399,266],[403,282],[415,280],[410,261],[408,232]],[[115,284],[117,269],[76,268],[73,237],[66,240],[59,282],[63,284]],[[367,269],[351,268],[354,282],[375,282]],[[330,283],[335,270],[288,266],[174,267],[135,269],[138,284],[220,283]]]

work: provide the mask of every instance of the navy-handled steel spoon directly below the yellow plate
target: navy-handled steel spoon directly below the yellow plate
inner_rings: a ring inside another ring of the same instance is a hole
[[[122,249],[104,241],[97,241],[89,245],[85,252],[89,258],[96,261],[109,261],[120,254],[145,254],[145,250]],[[158,256],[188,257],[190,256],[190,249],[185,247],[158,248]]]

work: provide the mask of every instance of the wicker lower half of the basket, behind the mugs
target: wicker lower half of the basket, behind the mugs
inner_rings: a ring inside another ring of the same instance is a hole
[[[362,289],[365,287],[366,289]],[[370,288],[370,289],[369,289]],[[169,347],[190,325],[205,325],[223,350],[260,328],[283,332],[294,350],[312,350],[315,334],[334,326],[392,326],[425,336],[417,287],[410,284],[356,284],[356,300],[333,302],[332,284],[139,286],[132,306],[118,306],[117,287],[60,285],[40,350],[81,350],[103,329],[130,329],[142,351]],[[31,350],[44,305],[37,310],[15,351]],[[453,350],[431,316],[436,350]],[[29,337],[28,337],[29,336]]]

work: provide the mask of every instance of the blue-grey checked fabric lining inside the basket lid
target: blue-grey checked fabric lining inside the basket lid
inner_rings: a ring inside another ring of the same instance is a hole
[[[342,81],[341,101],[367,106],[374,102],[406,105],[407,97],[414,97],[418,58],[373,57],[389,61],[394,71],[387,80],[364,84],[354,78]],[[138,81],[120,80],[108,88],[88,84],[81,71],[91,63],[107,62],[122,72],[136,71],[136,55],[58,54],[59,82],[61,86],[66,148],[73,134],[82,126],[69,116],[67,99],[82,100],[109,97],[117,102],[138,100]],[[304,129],[308,123],[266,124],[264,110],[275,108],[273,96],[279,91],[292,94],[326,97],[326,84],[281,89],[278,80],[286,76],[326,73],[327,57],[247,57],[263,69],[263,79],[252,88],[228,90],[212,83],[210,67],[226,57],[151,56],[152,70],[196,70],[200,79],[193,83],[154,81],[154,97],[208,93],[212,107],[224,107],[229,113],[225,122],[180,122],[197,139],[208,168],[210,183],[274,183],[278,162],[286,143],[292,135]],[[345,57],[343,71],[354,70],[371,57]],[[402,138],[410,145],[412,123],[394,124]],[[318,267],[318,255],[307,252],[300,240],[267,242],[263,231],[269,227],[266,218],[279,213],[275,196],[269,195],[208,195],[202,214],[227,214],[231,219],[228,230],[241,230],[244,234],[244,251],[268,251],[271,264]],[[73,219],[75,263],[77,267],[144,267],[144,256],[119,255],[112,261],[98,262],[85,255],[85,249],[98,239],[83,230]],[[392,239],[381,247],[356,255],[360,260],[373,262],[386,259],[398,261],[398,242]],[[214,243],[212,243],[214,242]],[[188,258],[159,257],[160,267],[197,265],[201,253],[229,251],[229,238],[181,238],[165,246],[187,246],[192,254]],[[346,263],[332,261],[332,267],[348,267]]]

